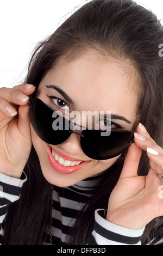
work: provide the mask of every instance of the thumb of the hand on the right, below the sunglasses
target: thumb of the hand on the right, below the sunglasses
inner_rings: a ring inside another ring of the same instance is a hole
[[[142,149],[135,143],[131,144],[125,157],[120,179],[137,176]]]

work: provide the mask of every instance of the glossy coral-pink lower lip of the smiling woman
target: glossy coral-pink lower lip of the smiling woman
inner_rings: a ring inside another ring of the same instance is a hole
[[[83,166],[85,166],[87,163],[90,162],[90,161],[84,161],[78,164],[77,166],[66,166],[66,167],[62,166],[60,163],[58,163],[54,159],[54,156],[52,155],[51,147],[48,144],[47,144],[47,155],[48,155],[48,160],[51,166],[55,170],[57,170],[57,172],[66,173],[66,174],[77,172],[77,170],[81,169]]]

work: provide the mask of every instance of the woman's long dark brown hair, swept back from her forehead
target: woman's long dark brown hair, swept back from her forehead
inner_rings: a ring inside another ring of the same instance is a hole
[[[134,66],[139,74],[137,121],[145,125],[154,141],[162,146],[163,58],[159,57],[162,42],[163,28],[151,11],[131,0],[93,0],[40,43],[29,63],[26,82],[37,88],[46,72],[61,57],[71,61],[91,49],[119,62],[128,61],[128,65]],[[77,217],[72,244],[86,244],[93,229],[94,211],[107,209],[122,166],[116,163],[96,187],[86,210]],[[138,173],[146,175],[148,170],[148,157],[143,151]],[[3,244],[6,245],[41,245],[51,221],[52,186],[43,178],[33,147],[24,171],[28,180],[23,185],[20,199],[9,206],[5,219]],[[88,214],[91,219],[87,218]],[[161,224],[162,218],[159,217],[147,225],[142,245],[161,234]]]

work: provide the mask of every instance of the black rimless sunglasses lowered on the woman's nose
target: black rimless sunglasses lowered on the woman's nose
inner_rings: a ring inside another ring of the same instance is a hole
[[[111,130],[109,136],[101,136],[102,130],[86,129],[77,133],[73,129],[65,129],[65,127],[72,126],[71,121],[59,113],[56,113],[57,118],[64,126],[61,130],[54,130],[52,127],[55,120],[52,117],[53,109],[37,98],[30,99],[28,104],[30,123],[36,134],[48,144],[61,144],[72,133],[76,133],[80,136],[80,145],[85,155],[95,160],[106,160],[124,153],[129,145],[134,143],[134,135],[131,131]]]

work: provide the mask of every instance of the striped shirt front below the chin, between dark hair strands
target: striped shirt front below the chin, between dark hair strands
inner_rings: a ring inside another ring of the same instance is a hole
[[[91,196],[92,188],[102,175],[79,181],[70,187],[53,187],[52,211],[52,242],[53,245],[66,245],[70,239],[70,230],[76,222],[87,200]]]

